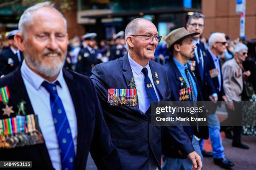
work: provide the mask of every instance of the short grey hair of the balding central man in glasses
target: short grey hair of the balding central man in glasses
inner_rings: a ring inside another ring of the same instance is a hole
[[[131,20],[130,23],[128,23],[128,25],[125,28],[125,44],[127,45],[128,48],[129,48],[129,45],[127,44],[126,38],[128,36],[136,35],[138,33],[138,31],[139,31],[139,27],[138,27],[139,20],[147,20],[147,21],[151,22],[151,20],[148,20],[146,18],[135,18],[135,19]]]

